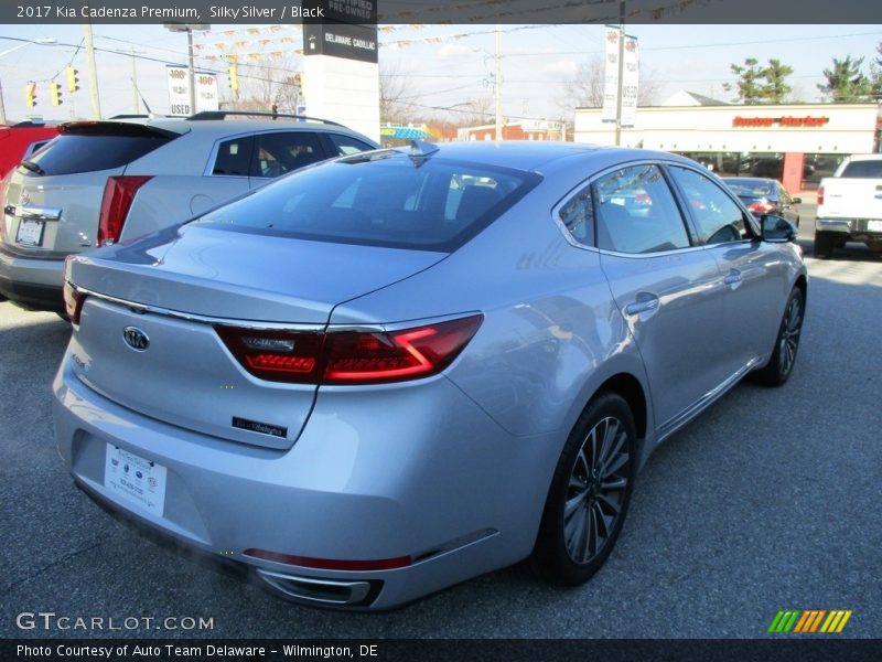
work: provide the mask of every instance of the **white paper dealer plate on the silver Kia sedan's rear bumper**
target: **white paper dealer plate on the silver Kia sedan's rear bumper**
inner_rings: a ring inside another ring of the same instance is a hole
[[[104,487],[160,517],[165,506],[165,472],[162,465],[107,445]]]

